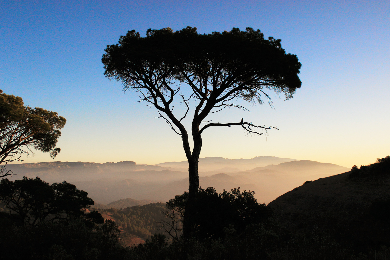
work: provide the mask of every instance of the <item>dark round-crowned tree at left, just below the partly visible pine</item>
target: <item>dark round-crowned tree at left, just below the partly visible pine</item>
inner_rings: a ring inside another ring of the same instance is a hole
[[[7,209],[1,212],[2,216],[20,226],[67,221],[82,216],[89,221],[103,223],[100,213],[92,211],[85,214],[84,209],[94,205],[87,195],[87,192],[66,181],[51,185],[38,177],[0,181],[0,202]]]

